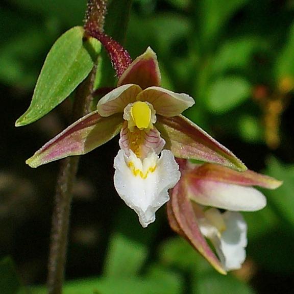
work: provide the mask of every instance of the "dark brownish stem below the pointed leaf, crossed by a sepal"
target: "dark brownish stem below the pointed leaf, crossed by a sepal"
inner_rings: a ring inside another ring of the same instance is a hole
[[[72,120],[75,121],[91,110],[92,91],[96,66],[88,78],[79,86],[72,109]],[[49,294],[61,294],[64,280],[68,228],[72,187],[77,174],[79,156],[62,160],[58,175],[55,208],[53,211],[50,256],[48,261],[47,286]]]

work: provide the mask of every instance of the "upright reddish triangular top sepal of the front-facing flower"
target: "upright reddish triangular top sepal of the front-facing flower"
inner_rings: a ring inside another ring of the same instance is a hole
[[[157,57],[150,47],[145,53],[138,56],[121,75],[117,86],[125,84],[136,84],[142,89],[161,84]]]

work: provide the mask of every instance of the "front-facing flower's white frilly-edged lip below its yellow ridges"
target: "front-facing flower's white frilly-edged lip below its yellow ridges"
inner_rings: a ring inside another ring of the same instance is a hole
[[[131,156],[135,156],[130,151]],[[153,153],[151,156],[158,156]],[[134,176],[126,162],[130,160],[123,150],[114,159],[114,186],[120,198],[135,210],[142,227],[155,220],[155,212],[169,200],[168,189],[173,188],[180,179],[180,171],[173,153],[161,152],[157,167],[145,179]]]

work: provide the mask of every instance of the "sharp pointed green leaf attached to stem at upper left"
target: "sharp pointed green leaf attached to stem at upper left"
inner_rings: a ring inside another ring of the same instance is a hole
[[[75,27],[54,43],[42,67],[31,105],[15,126],[31,124],[50,112],[88,76],[101,45],[92,38],[83,41],[83,36],[84,29]]]

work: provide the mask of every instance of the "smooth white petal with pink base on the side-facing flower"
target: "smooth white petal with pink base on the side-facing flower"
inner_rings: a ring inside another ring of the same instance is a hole
[[[189,192],[194,202],[232,211],[257,211],[266,206],[264,195],[253,187],[200,180]]]

